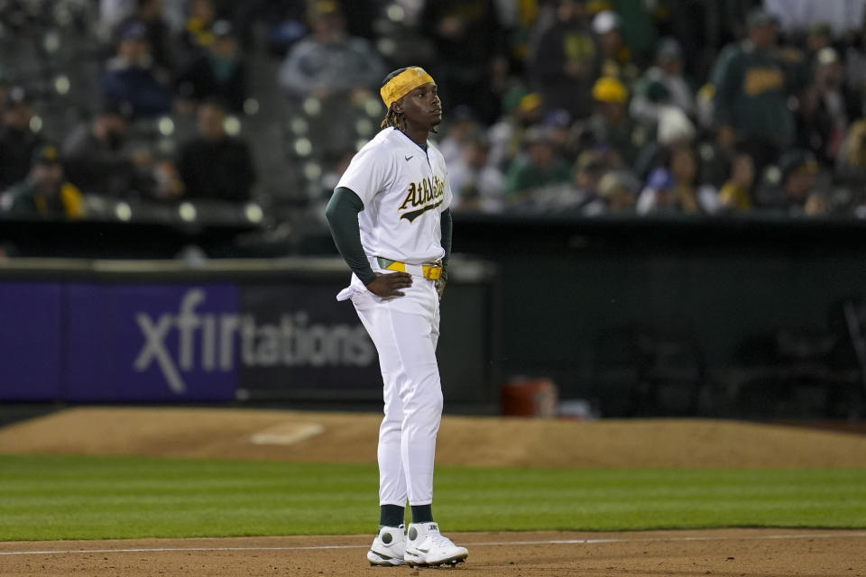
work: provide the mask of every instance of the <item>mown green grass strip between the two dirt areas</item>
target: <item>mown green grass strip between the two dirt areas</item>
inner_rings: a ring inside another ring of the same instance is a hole
[[[0,541],[373,533],[373,465],[0,455]],[[866,527],[866,470],[438,467],[449,531]]]

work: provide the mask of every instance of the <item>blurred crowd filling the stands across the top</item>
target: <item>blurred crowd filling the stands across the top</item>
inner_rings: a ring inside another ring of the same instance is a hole
[[[89,197],[134,197],[320,218],[378,129],[382,78],[414,64],[438,81],[457,211],[866,217],[864,12],[866,0],[7,0],[0,216],[80,218]],[[47,87],[8,50],[37,30]],[[57,34],[95,47],[97,66],[62,59]],[[58,99],[79,77],[78,101]]]

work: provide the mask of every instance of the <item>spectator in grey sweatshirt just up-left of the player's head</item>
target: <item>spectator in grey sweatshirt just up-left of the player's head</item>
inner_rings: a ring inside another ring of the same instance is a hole
[[[309,8],[312,34],[292,46],[280,69],[280,85],[291,96],[319,98],[333,93],[378,90],[387,70],[370,42],[347,36],[334,0]]]

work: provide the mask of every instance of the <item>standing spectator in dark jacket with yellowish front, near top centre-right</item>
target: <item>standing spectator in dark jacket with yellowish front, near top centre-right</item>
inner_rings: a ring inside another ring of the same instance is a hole
[[[597,64],[584,3],[560,0],[557,20],[539,36],[528,67],[544,110],[566,110],[572,118],[592,114]]]

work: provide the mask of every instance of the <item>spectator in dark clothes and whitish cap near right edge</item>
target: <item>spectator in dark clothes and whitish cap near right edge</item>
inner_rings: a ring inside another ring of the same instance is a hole
[[[834,163],[848,124],[860,115],[861,97],[847,86],[844,77],[838,52],[833,48],[820,50],[815,57],[815,78],[798,110],[801,144],[827,165]]]

